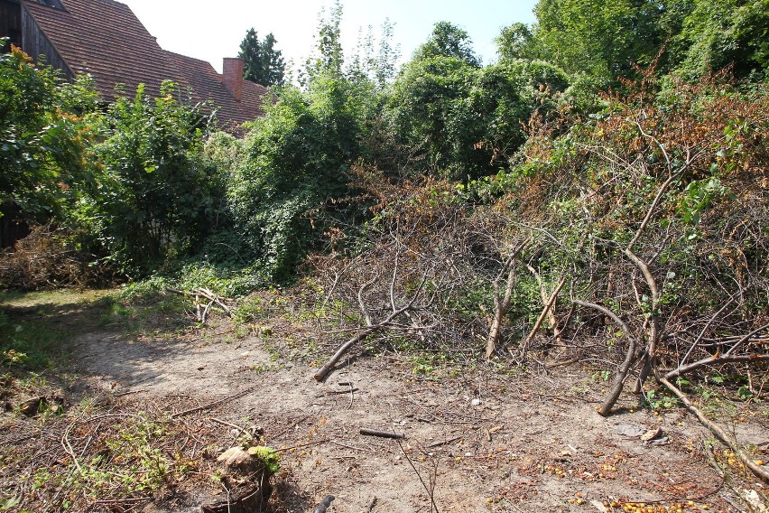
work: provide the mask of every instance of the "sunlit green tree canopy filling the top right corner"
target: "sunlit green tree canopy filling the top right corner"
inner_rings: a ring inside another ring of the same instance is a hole
[[[514,23],[496,38],[501,60],[542,59],[591,92],[621,87],[637,68],[686,79],[730,67],[740,79],[765,77],[769,66],[769,1],[542,0],[537,23]]]

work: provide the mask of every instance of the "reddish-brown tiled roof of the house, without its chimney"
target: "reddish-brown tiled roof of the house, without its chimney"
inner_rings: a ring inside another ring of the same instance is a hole
[[[244,81],[236,101],[221,75],[206,61],[164,51],[128,5],[114,0],[61,0],[65,9],[25,0],[24,5],[42,33],[59,52],[69,70],[90,74],[107,101],[116,98],[116,84],[132,95],[139,83],[158,96],[162,80],[191,87],[196,101],[208,99],[218,107],[218,119],[232,129],[262,116],[262,98],[269,89]]]

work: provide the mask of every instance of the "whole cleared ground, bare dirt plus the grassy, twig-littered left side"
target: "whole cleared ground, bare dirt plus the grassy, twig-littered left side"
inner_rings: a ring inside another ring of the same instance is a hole
[[[347,512],[761,510],[762,481],[664,388],[598,415],[607,368],[374,339],[318,382],[345,335],[310,292],[257,294],[235,311],[248,322],[213,312],[206,326],[176,294],[4,295],[4,332],[41,346],[36,371],[3,377],[3,508],[226,511],[268,469],[271,511],[327,495]],[[723,376],[692,396],[765,460],[769,410],[734,387]],[[236,446],[270,449],[242,473],[218,461]]]

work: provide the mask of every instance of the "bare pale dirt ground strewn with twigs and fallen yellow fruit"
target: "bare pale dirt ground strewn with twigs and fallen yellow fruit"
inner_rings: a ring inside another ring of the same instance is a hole
[[[222,422],[258,425],[283,454],[279,511],[309,512],[327,495],[333,513],[766,511],[764,484],[729,468],[721,475],[705,450],[711,434],[685,410],[638,408],[625,394],[616,415],[599,416],[607,383],[592,369],[455,365],[418,376],[405,355],[353,351],[319,383],[322,361],[292,358],[267,333],[237,338],[226,323],[196,337],[84,330],[68,394],[108,393],[127,409],[203,406],[185,417],[216,425],[221,452],[239,433]],[[320,343],[318,355],[336,346]],[[769,443],[764,410],[720,420],[759,453]],[[641,440],[657,428],[653,441]],[[716,443],[718,462],[722,450]],[[199,511],[216,497],[188,487],[135,510]]]

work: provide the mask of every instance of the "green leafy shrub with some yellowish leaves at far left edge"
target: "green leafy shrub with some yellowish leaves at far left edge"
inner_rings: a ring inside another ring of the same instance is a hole
[[[70,188],[88,181],[86,128],[73,113],[93,107],[83,82],[60,85],[16,47],[0,55],[0,217],[51,219]]]

